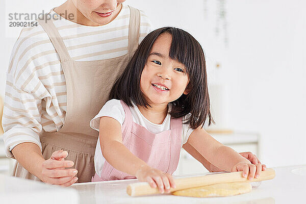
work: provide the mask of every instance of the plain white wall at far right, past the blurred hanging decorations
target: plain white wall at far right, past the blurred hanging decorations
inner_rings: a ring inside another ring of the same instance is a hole
[[[258,130],[272,166],[306,164],[305,1],[231,1],[231,123]]]

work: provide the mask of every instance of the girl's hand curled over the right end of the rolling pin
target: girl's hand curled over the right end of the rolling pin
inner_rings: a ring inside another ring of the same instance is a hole
[[[256,165],[251,164],[249,161],[247,162],[239,162],[234,165],[232,168],[233,171],[243,171],[242,176],[247,177],[249,180],[254,179],[254,177],[257,179],[262,171],[262,165],[260,163],[257,163]]]

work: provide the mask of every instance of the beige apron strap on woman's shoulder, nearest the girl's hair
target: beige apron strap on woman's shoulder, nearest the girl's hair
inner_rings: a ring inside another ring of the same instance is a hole
[[[129,45],[127,52],[134,53],[139,43],[140,12],[138,9],[129,6],[130,23],[129,23]]]

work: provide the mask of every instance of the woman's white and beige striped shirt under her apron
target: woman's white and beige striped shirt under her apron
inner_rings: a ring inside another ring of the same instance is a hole
[[[64,18],[54,24],[72,60],[94,61],[127,54],[129,21],[130,9],[123,4],[118,16],[106,25],[90,27]],[[149,32],[150,22],[141,11],[139,43]],[[65,77],[53,44],[39,24],[24,28],[7,71],[2,121],[7,156],[13,157],[11,150],[23,142],[41,148],[39,133],[60,130],[66,106]]]

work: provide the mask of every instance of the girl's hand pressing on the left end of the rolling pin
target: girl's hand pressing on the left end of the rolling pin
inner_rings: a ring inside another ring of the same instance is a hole
[[[170,193],[170,188],[175,188],[174,180],[170,174],[149,166],[143,166],[136,172],[136,177],[141,182],[148,182],[151,188],[158,186],[161,193]]]

